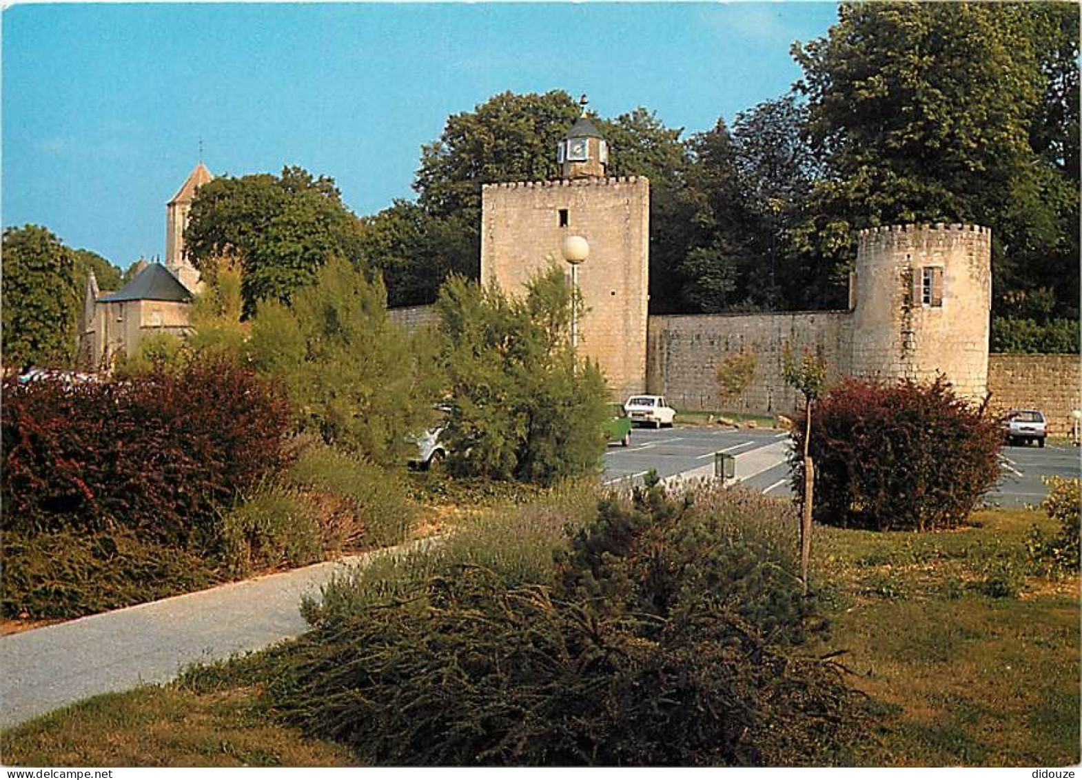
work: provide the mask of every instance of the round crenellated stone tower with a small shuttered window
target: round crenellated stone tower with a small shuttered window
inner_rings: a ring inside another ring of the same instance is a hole
[[[853,373],[932,381],[963,396],[988,389],[992,232],[979,225],[890,225],[860,232]]]

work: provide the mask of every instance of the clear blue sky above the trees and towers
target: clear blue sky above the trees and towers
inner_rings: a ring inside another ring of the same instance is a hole
[[[834,3],[26,4],[2,16],[2,221],[127,266],[164,252],[164,204],[300,165],[358,214],[491,95],[564,89],[687,133],[776,98]]]

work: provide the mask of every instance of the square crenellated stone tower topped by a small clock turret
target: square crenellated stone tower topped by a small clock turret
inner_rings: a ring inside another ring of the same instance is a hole
[[[607,159],[605,140],[581,117],[557,148],[564,179],[481,187],[480,277],[520,295],[550,265],[568,269],[564,238],[585,238],[579,352],[597,361],[623,399],[646,389],[650,184],[644,177],[606,178]]]

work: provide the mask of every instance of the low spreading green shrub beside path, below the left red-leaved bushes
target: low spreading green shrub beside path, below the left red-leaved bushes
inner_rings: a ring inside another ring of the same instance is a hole
[[[3,534],[0,612],[79,618],[190,593],[219,581],[203,556],[141,540],[133,531]]]

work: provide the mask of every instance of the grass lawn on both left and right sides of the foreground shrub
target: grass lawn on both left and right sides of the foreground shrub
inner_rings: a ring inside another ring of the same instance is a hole
[[[1063,766],[1079,756],[1078,581],[1025,571],[1038,511],[989,510],[949,533],[816,528],[823,652],[870,697],[871,766]],[[275,724],[259,656],[164,687],[97,697],[0,734],[8,765],[344,766]],[[210,681],[208,682],[208,677]]]

